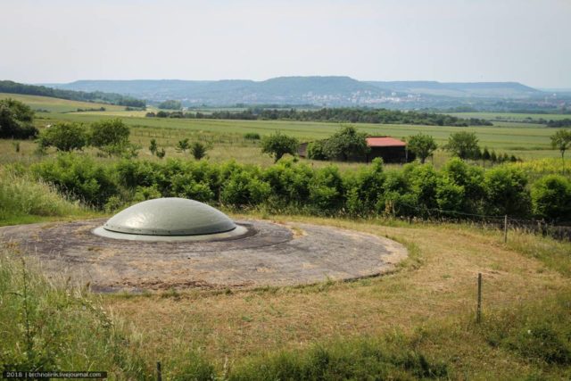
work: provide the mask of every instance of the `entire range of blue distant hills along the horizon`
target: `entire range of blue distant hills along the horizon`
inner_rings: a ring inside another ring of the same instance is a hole
[[[359,81],[349,77],[279,77],[230,80],[79,80],[50,84],[65,90],[108,92],[158,104],[167,99],[185,106],[233,104],[312,104],[429,108],[462,105],[464,100],[528,99],[542,93],[515,82],[441,83]]]

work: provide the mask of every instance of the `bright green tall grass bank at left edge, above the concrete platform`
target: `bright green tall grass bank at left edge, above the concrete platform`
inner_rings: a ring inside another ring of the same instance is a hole
[[[25,171],[0,167],[0,222],[18,216],[68,216],[82,211],[77,202],[58,194],[54,186]]]

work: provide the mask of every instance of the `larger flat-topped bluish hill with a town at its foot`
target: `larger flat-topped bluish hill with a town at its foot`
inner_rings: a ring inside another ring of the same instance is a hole
[[[280,77],[253,80],[79,80],[61,89],[105,91],[153,102],[166,99],[194,104],[362,104],[391,91],[349,77]]]

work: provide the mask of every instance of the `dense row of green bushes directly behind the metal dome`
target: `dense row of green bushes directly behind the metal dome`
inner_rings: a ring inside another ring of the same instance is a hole
[[[354,172],[281,160],[262,169],[236,162],[216,164],[124,159],[95,162],[75,154],[34,164],[32,172],[95,207],[160,196],[226,206],[317,215],[462,216],[461,213],[565,220],[571,213],[571,181],[549,175],[528,184],[513,166],[484,170],[451,159],[442,170],[411,163],[385,171],[379,159]]]

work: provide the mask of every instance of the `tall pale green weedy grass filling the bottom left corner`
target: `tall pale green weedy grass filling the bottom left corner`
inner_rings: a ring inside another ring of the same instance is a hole
[[[0,369],[108,371],[149,377],[140,345],[93,295],[54,285],[17,248],[0,252]]]

